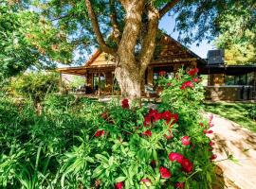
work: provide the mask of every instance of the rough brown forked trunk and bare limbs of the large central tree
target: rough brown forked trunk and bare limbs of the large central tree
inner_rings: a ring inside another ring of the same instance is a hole
[[[101,49],[105,53],[113,55],[117,60],[115,75],[119,82],[122,96],[132,100],[140,98],[142,78],[155,51],[158,21],[180,0],[173,0],[166,3],[162,9],[155,9],[153,4],[149,4],[146,0],[119,0],[126,13],[123,30],[119,30],[115,9],[116,1],[109,0],[110,20],[118,49],[111,48],[105,43],[101,35],[97,15],[92,8],[91,2],[90,0],[84,1]],[[147,17],[145,23],[142,23],[143,16]],[[144,26],[142,29],[146,28],[143,32],[141,32],[142,25]],[[141,39],[140,43],[138,43],[138,39]],[[137,52],[139,45],[140,50]]]

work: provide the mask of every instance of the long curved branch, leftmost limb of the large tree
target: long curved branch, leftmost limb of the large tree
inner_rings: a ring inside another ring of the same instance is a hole
[[[109,47],[103,39],[103,36],[101,34],[101,29],[100,29],[100,26],[99,26],[99,22],[98,22],[98,19],[96,17],[96,14],[95,14],[94,10],[92,9],[92,5],[91,5],[90,0],[85,0],[85,5],[86,5],[87,10],[88,10],[88,15],[91,19],[91,23],[92,23],[92,26],[93,26],[94,33],[96,35],[97,42],[100,44],[101,49],[105,53],[111,54],[114,57],[116,57],[117,56],[117,51],[114,48]]]

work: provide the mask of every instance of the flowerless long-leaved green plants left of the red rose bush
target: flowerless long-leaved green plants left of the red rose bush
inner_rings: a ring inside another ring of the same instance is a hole
[[[0,188],[78,188],[85,181],[69,173],[86,161],[84,144],[102,105],[50,95],[44,107],[38,115],[30,101],[0,97]]]

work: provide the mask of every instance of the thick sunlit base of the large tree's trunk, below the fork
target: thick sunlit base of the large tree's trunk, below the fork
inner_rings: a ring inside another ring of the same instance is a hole
[[[115,70],[115,75],[119,82],[122,97],[128,97],[131,100],[140,98],[140,85],[142,78],[137,72],[135,72],[135,70],[117,67]]]

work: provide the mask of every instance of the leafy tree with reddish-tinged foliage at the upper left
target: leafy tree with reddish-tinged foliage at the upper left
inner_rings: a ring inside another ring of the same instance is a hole
[[[64,35],[64,34],[63,34]],[[53,67],[54,60],[69,62],[72,46],[39,13],[0,3],[0,78],[27,70]]]

